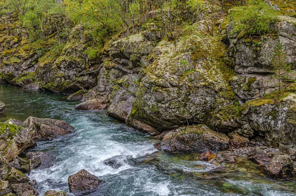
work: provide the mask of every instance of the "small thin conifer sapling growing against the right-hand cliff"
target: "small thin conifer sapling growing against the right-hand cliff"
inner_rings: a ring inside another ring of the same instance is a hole
[[[275,45],[272,55],[272,66],[274,75],[272,77],[277,79],[277,87],[279,88],[279,94],[281,94],[281,87],[285,87],[287,91],[287,80],[292,80],[295,77],[295,73],[291,69],[291,64],[287,63],[287,52],[283,47],[282,42],[278,40]]]

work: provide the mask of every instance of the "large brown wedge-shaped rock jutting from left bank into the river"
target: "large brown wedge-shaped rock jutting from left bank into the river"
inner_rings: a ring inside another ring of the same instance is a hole
[[[49,118],[27,118],[22,126],[34,133],[35,140],[52,140],[60,135],[74,131],[74,127],[63,120]]]

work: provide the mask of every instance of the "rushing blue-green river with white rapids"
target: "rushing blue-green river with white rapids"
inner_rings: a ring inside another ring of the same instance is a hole
[[[199,161],[196,154],[157,152],[153,137],[107,117],[104,111],[76,111],[77,102],[62,97],[0,84],[0,100],[7,107],[0,121],[55,118],[76,129],[52,141],[37,142],[30,149],[57,158],[52,167],[33,170],[29,176],[37,180],[41,196],[47,190],[68,193],[68,176],[80,169],[105,181],[84,194],[89,196],[296,196],[295,181],[269,179],[249,161],[225,164],[226,172],[210,173],[215,166]],[[120,156],[123,166],[113,169],[104,164],[113,156]]]

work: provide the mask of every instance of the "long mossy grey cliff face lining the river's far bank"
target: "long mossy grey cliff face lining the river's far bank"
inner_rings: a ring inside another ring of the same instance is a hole
[[[74,93],[69,99],[83,101],[77,109],[107,108],[108,115],[141,131],[165,131],[159,149],[199,151],[203,147],[197,144],[210,144],[223,150],[240,138],[296,155],[294,84],[279,97],[269,76],[278,39],[288,63],[296,66],[295,19],[271,28],[272,35],[247,39],[228,25],[222,29],[226,45],[221,37],[205,34],[202,23],[173,41],[148,23],[145,30],[119,34],[99,49],[81,25],[59,46],[50,39],[29,43],[23,35],[2,37],[0,78],[26,88]]]

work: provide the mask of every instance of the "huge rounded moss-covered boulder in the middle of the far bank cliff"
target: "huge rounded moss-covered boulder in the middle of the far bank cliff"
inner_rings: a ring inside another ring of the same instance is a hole
[[[144,62],[127,121],[136,119],[160,131],[204,122],[218,105],[234,98],[224,52],[220,39],[197,30],[175,41],[161,40]]]

